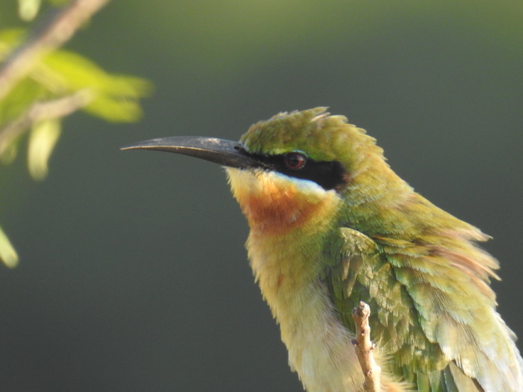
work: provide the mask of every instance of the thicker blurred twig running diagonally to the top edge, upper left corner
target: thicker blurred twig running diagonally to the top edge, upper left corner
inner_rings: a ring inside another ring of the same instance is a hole
[[[110,0],[74,0],[53,11],[42,28],[14,50],[0,69],[0,101],[33,66],[49,52],[62,46],[82,24]]]

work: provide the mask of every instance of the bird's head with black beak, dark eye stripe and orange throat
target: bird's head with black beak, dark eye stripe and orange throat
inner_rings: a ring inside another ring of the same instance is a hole
[[[252,125],[239,142],[172,137],[123,147],[130,149],[175,152],[226,167],[251,228],[272,233],[311,227],[343,206],[369,201],[374,188],[384,189],[383,175],[392,173],[365,130],[324,107],[277,114]]]

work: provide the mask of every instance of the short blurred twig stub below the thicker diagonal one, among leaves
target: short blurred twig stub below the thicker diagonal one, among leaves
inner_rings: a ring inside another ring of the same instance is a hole
[[[34,123],[68,116],[86,106],[91,99],[92,94],[89,94],[88,90],[80,90],[59,99],[33,103],[21,116],[0,128],[0,155],[11,140],[21,135]]]

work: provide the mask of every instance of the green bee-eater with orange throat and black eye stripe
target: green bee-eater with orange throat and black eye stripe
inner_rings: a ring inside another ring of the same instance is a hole
[[[328,108],[278,113],[238,142],[175,136],[122,150],[226,169],[248,259],[308,392],[367,392],[353,308],[367,303],[381,392],[522,392],[523,359],[490,287],[490,237],[392,171],[362,128]]]

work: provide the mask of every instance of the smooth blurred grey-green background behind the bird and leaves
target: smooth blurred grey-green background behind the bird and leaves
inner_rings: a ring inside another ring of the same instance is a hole
[[[499,310],[523,337],[522,20],[508,0],[111,2],[67,47],[155,94],[133,125],[68,118],[43,182],[24,156],[0,167],[21,256],[0,266],[0,391],[302,391],[223,170],[119,147],[236,140],[313,106],[367,129],[417,191],[494,237]]]

